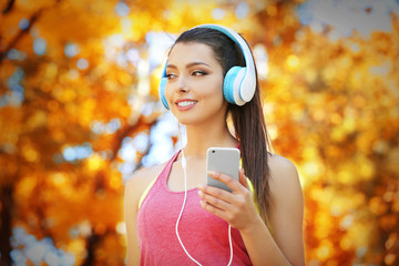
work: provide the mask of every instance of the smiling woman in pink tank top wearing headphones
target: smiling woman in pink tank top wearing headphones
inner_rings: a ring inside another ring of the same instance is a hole
[[[252,60],[244,39],[219,25],[193,28],[175,41],[161,98],[186,126],[187,144],[170,162],[139,171],[126,184],[127,265],[227,265],[231,248],[232,265],[305,265],[298,174],[293,163],[267,151]],[[245,66],[242,73],[237,65]],[[247,99],[228,96],[232,83],[244,84],[238,90],[249,90],[241,91]],[[238,181],[205,173],[211,146],[241,150]],[[232,192],[206,185],[206,174]]]

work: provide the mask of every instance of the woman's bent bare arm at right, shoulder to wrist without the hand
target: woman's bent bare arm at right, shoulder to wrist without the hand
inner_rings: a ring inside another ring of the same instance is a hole
[[[272,214],[269,229],[260,217],[242,236],[254,265],[305,265],[304,202],[298,173],[288,160],[270,158]]]

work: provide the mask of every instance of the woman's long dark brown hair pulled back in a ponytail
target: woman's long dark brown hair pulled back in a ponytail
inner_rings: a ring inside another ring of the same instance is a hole
[[[215,58],[223,68],[224,75],[232,66],[245,66],[244,55],[239,45],[218,30],[193,28],[183,32],[175,41],[175,43],[177,42],[198,42],[211,47]],[[239,141],[245,175],[254,185],[254,198],[258,211],[262,218],[268,224],[268,214],[272,208],[268,184],[270,176],[268,149],[270,147],[270,142],[266,131],[257,73],[254,98],[243,106],[228,104],[228,113],[233,120],[236,139]]]

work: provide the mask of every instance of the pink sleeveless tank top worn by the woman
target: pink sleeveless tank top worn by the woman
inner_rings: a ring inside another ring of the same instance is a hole
[[[167,187],[167,178],[178,152],[168,161],[144,198],[137,214],[136,232],[141,265],[196,265],[184,253],[175,234],[184,192]],[[198,188],[187,191],[186,205],[178,224],[180,237],[191,256],[202,265],[227,265],[228,224],[203,209]],[[232,265],[252,265],[243,238],[232,228]]]

